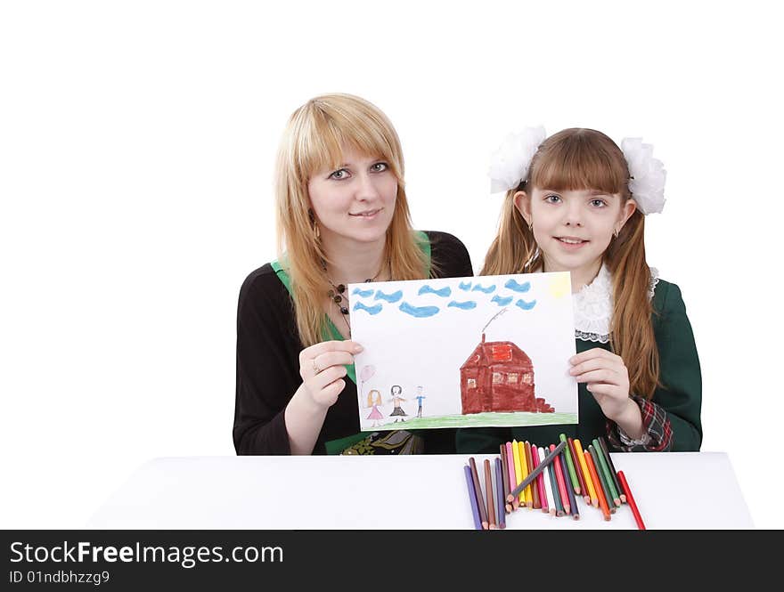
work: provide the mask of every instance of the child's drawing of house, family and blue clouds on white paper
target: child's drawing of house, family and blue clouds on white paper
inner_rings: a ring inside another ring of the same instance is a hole
[[[577,423],[568,272],[349,288],[361,429]]]

